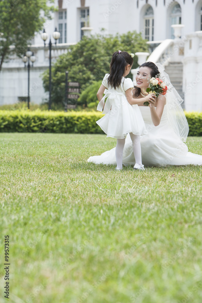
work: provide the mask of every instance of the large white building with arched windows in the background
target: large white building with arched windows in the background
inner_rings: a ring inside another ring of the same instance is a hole
[[[165,66],[171,82],[184,96],[185,108],[202,111],[202,0],[56,0],[55,5],[58,12],[44,25],[49,35],[55,27],[61,33],[57,46],[52,49],[53,62],[68,51],[70,44],[82,38],[84,26],[93,28],[91,34],[115,35],[136,30],[149,40],[151,55],[147,60]],[[174,24],[184,25],[178,37],[171,27]],[[55,42],[53,38],[52,42]],[[41,103],[48,97],[40,74],[49,66],[49,52],[40,34],[34,37],[31,51],[36,61],[30,70],[30,100]],[[3,64],[1,105],[26,98],[27,77],[24,63],[16,56]]]

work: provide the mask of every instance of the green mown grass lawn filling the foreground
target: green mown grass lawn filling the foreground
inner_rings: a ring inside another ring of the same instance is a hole
[[[201,303],[201,167],[87,163],[115,143],[0,134],[0,303]],[[202,138],[187,145],[202,154]]]

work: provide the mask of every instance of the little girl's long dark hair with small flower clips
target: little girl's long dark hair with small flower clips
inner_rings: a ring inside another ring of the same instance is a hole
[[[133,65],[133,58],[128,52],[114,52],[110,63],[108,86],[118,88],[121,84],[126,65]]]

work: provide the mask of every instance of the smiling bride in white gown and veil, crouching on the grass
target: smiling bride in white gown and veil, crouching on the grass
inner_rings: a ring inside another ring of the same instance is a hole
[[[169,76],[161,64],[143,63],[136,75],[136,86],[132,90],[134,98],[144,98],[148,87],[148,78],[160,73],[167,82],[165,96],[159,95],[149,106],[139,104],[147,135],[141,136],[142,163],[144,166],[166,165],[202,165],[202,155],[188,152],[186,142],[189,127],[181,108],[182,99],[171,85]],[[99,156],[92,156],[88,162],[95,164],[116,164],[115,148]],[[132,141],[129,135],[123,151],[123,165],[134,165],[135,158]]]

